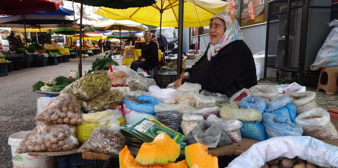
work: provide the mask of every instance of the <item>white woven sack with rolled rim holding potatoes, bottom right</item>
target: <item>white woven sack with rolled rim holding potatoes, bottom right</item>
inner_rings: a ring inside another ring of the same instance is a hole
[[[226,168],[260,168],[279,157],[307,160],[317,166],[338,167],[338,147],[309,136],[275,137],[252,145]]]

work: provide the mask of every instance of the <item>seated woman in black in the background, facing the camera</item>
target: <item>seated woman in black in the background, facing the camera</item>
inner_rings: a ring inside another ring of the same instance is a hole
[[[158,46],[151,40],[149,32],[145,32],[144,40],[146,41],[146,45],[141,50],[139,60],[132,62],[130,65],[130,68],[134,71],[137,71],[138,68],[148,71],[159,64]]]

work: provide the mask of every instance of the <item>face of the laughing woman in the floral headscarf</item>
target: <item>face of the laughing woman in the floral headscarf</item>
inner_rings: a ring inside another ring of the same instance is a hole
[[[223,34],[225,33],[224,26],[225,24],[221,19],[215,18],[212,20],[209,27],[210,43],[212,45],[216,45],[218,41],[222,38]]]

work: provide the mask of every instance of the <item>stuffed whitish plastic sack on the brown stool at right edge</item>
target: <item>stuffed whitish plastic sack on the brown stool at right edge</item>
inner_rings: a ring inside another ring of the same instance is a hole
[[[326,38],[323,46],[319,49],[315,62],[310,66],[312,71],[322,67],[338,68],[338,20],[330,23],[334,26]]]

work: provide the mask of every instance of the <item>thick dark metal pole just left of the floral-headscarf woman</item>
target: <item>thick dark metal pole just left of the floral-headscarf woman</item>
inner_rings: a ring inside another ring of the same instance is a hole
[[[177,53],[177,79],[182,73],[182,48],[183,48],[183,10],[184,0],[178,1],[178,53]]]

